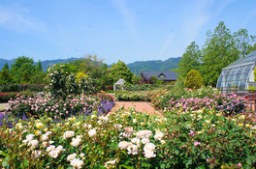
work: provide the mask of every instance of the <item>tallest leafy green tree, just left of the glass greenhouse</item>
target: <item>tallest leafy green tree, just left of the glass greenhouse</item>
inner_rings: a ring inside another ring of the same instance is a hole
[[[223,21],[214,32],[208,31],[208,39],[203,48],[201,72],[207,85],[215,86],[221,70],[240,58],[230,30]]]

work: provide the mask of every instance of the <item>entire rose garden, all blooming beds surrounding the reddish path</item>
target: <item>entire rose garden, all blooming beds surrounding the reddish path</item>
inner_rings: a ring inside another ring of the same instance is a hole
[[[3,168],[256,165],[256,114],[236,94],[170,84],[129,86],[113,97],[95,90],[89,78],[61,69],[48,70],[48,78],[45,92],[10,99],[1,115]],[[133,107],[109,114],[115,100],[149,101],[162,116]],[[235,106],[229,107],[232,100]]]

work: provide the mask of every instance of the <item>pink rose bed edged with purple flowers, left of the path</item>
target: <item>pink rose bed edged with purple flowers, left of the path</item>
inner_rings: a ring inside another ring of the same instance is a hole
[[[20,96],[9,100],[9,111],[12,115],[23,118],[47,115],[55,120],[66,119],[73,115],[89,115],[99,110],[98,115],[108,113],[113,106],[112,96],[101,94],[97,96],[68,96],[66,99],[54,99],[46,93],[32,97]]]

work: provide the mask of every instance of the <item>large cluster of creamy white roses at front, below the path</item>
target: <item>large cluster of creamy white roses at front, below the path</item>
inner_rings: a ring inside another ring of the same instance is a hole
[[[130,155],[138,155],[139,149],[141,147],[141,143],[144,144],[144,157],[151,158],[155,157],[155,145],[150,143],[149,137],[152,135],[151,130],[140,130],[135,133],[136,137],[131,139],[131,142],[121,141],[118,144],[118,147],[121,150],[127,150],[127,154]],[[123,134],[122,134],[123,135]],[[164,133],[156,130],[154,135],[155,140],[162,141],[164,137]],[[162,143],[162,142],[161,142]]]

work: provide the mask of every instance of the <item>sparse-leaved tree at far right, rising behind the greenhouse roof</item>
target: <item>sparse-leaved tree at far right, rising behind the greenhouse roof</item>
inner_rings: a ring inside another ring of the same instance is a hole
[[[249,36],[246,29],[240,29],[238,32],[234,33],[234,39],[236,47],[240,51],[240,58],[244,58],[255,45],[256,37]]]

